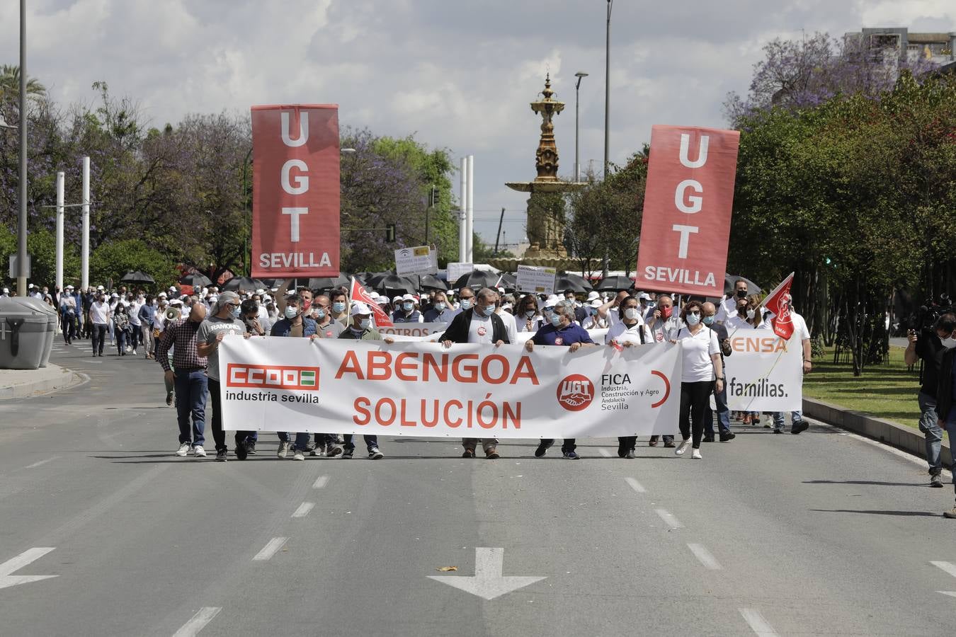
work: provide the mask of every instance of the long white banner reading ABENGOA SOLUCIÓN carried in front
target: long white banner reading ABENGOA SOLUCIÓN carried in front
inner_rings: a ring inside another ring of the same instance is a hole
[[[223,428],[564,438],[675,434],[681,350],[227,336]]]

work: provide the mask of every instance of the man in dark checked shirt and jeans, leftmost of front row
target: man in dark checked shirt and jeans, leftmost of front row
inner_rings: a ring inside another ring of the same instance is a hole
[[[196,333],[206,318],[206,306],[194,303],[185,319],[167,326],[156,350],[156,360],[163,366],[167,384],[176,388],[176,412],[179,418],[180,447],[177,456],[185,456],[189,448],[195,457],[206,457],[203,443],[206,438],[206,357],[196,350]],[[173,372],[169,367],[169,348],[173,351]],[[192,416],[192,431],[189,416]]]

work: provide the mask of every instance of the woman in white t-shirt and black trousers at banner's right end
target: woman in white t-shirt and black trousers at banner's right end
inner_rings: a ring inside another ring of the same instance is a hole
[[[690,457],[701,458],[701,437],[704,434],[704,414],[710,393],[724,389],[724,369],[720,358],[717,332],[702,322],[704,308],[700,301],[684,306],[681,318],[684,327],[673,342],[681,344],[684,372],[681,375],[681,435],[684,441],[675,454],[683,456],[687,446],[693,447]],[[716,380],[716,382],[715,382]]]

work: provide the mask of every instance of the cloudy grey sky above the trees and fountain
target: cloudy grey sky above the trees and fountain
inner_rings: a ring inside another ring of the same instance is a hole
[[[414,134],[475,156],[475,230],[524,236],[539,133],[528,104],[550,71],[573,174],[575,73],[580,156],[603,157],[605,0],[28,0],[27,67],[58,101],[92,101],[106,80],[154,125],[251,104],[329,103],[343,125]],[[0,2],[0,63],[18,60],[18,3]],[[616,0],[611,29],[611,159],[652,124],[723,126],[774,37],[861,27],[956,31],[953,0]],[[456,159],[457,165],[457,159]],[[456,179],[457,184],[457,179]],[[457,186],[456,186],[457,190]],[[457,193],[456,193],[457,194]]]

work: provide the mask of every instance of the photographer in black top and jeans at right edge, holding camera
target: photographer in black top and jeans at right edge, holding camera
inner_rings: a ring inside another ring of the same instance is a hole
[[[929,326],[925,324],[925,321],[921,321],[915,327],[918,329],[907,331],[909,345],[903,353],[903,360],[906,365],[915,365],[918,360],[923,360],[923,385],[920,387],[920,393],[917,394],[921,412],[920,431],[926,438],[929,486],[942,488],[943,460],[940,457],[940,445],[943,441],[943,418],[936,413],[937,398],[940,381],[944,375],[941,374],[944,354],[947,347],[956,346],[956,340],[952,338],[953,330],[956,329],[956,314],[946,312]],[[951,377],[951,372],[945,375]],[[952,389],[948,388],[946,394],[951,397]],[[946,407],[948,408],[948,405]]]

